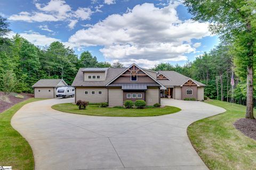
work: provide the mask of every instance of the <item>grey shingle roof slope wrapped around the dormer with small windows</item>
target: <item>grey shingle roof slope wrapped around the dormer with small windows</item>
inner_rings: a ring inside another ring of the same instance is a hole
[[[121,74],[126,68],[108,68],[106,80],[103,81],[83,81],[83,71],[85,68],[80,68],[72,83],[72,86],[105,86],[116,76]]]

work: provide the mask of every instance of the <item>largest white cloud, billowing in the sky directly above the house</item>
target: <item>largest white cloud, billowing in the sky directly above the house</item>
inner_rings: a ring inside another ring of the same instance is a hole
[[[138,60],[152,65],[158,61],[187,60],[186,53],[196,51],[191,39],[211,34],[207,23],[179,20],[178,5],[136,5],[125,14],[109,15],[92,27],[78,30],[70,36],[69,43],[77,47],[102,45],[100,52],[110,61]]]

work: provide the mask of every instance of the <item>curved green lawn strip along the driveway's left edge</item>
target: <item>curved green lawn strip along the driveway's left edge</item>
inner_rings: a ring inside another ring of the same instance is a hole
[[[28,142],[11,126],[11,118],[23,105],[42,99],[28,99],[0,114],[0,166],[34,169],[33,152]]]

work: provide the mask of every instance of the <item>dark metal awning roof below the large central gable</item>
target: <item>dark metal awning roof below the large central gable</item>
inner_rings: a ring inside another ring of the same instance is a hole
[[[157,83],[113,83],[108,87],[122,87],[122,90],[147,90],[147,86],[160,86]]]

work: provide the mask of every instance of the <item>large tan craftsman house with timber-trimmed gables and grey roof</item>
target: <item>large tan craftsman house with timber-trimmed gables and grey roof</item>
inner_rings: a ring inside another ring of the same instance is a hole
[[[128,68],[80,68],[72,86],[75,101],[108,102],[122,106],[126,100],[145,100],[148,106],[161,98],[204,99],[204,84],[175,71],[151,71],[132,64]]]

